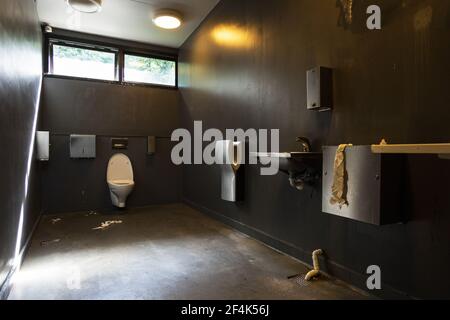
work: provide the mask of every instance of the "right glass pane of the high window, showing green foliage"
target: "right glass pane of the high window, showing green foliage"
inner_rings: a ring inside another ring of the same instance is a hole
[[[125,54],[125,82],[176,86],[176,62]]]

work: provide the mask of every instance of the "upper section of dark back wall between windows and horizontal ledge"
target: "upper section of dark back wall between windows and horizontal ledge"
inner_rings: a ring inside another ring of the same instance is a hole
[[[170,136],[180,125],[174,89],[45,77],[42,99],[53,133]]]

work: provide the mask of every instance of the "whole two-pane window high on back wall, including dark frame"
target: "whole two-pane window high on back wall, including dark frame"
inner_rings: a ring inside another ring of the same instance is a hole
[[[100,41],[46,38],[45,72],[59,77],[111,81],[117,84],[177,87],[176,53],[167,55]],[[152,50],[152,49],[150,49]]]

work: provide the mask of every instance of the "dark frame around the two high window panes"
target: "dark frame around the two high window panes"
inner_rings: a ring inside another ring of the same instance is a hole
[[[79,49],[97,50],[101,52],[115,53],[115,80],[104,80],[95,78],[75,77],[68,75],[59,75],[53,73],[53,45],[64,45]],[[134,43],[132,43],[134,44]],[[175,62],[175,85],[164,85],[146,82],[124,81],[125,73],[125,55],[141,56]],[[51,78],[75,79],[91,82],[103,82],[123,86],[142,86],[157,87],[165,89],[178,89],[178,56],[176,54],[160,53],[158,51],[145,50],[139,47],[135,48],[127,45],[108,44],[102,41],[92,41],[87,39],[77,39],[72,37],[47,35],[46,45],[44,46],[44,75]]]

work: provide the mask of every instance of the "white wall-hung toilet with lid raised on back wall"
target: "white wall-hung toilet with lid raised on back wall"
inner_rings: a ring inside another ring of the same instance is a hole
[[[115,154],[108,163],[106,173],[112,204],[125,208],[127,197],[134,188],[134,176],[131,160],[123,153]]]

